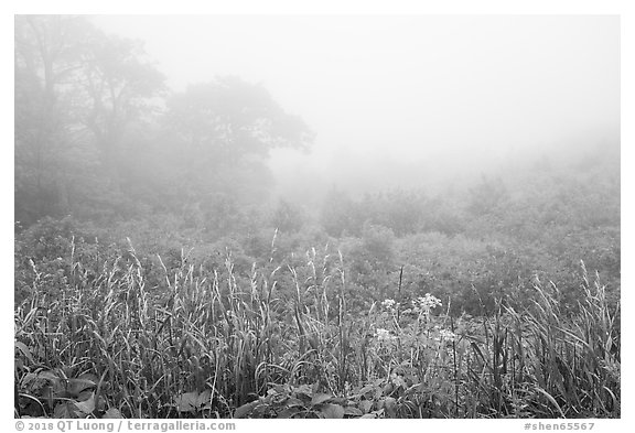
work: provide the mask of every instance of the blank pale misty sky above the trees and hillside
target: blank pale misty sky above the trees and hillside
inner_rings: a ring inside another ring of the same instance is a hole
[[[598,15],[100,15],[169,86],[237,75],[316,132],[282,181],[417,182],[616,137],[620,20]],[[380,163],[383,171],[377,171]],[[351,174],[353,176],[351,177]]]

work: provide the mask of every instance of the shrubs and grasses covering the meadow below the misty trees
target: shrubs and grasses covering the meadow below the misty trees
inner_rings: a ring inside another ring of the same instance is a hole
[[[571,184],[42,219],[15,238],[21,411],[620,416],[618,195]]]

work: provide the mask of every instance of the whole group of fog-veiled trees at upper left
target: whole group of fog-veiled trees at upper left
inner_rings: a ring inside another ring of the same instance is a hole
[[[15,219],[25,226],[263,197],[269,151],[313,140],[261,85],[217,77],[170,91],[141,42],[84,17],[17,17],[14,57]]]

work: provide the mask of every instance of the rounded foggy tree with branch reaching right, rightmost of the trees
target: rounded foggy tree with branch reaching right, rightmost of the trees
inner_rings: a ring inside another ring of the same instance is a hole
[[[259,85],[218,78],[168,99],[163,145],[183,206],[214,212],[212,197],[262,203],[272,184],[269,151],[308,149],[304,122]]]

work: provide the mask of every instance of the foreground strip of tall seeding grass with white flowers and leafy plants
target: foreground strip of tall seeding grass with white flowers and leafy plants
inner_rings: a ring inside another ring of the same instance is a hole
[[[74,251],[74,249],[73,249]],[[579,310],[555,285],[493,317],[434,306],[346,308],[344,258],[238,275],[189,264],[150,286],[132,247],[89,272],[71,253],[15,307],[20,411],[36,416],[615,418],[620,310],[583,270]],[[417,310],[419,308],[419,310]]]

